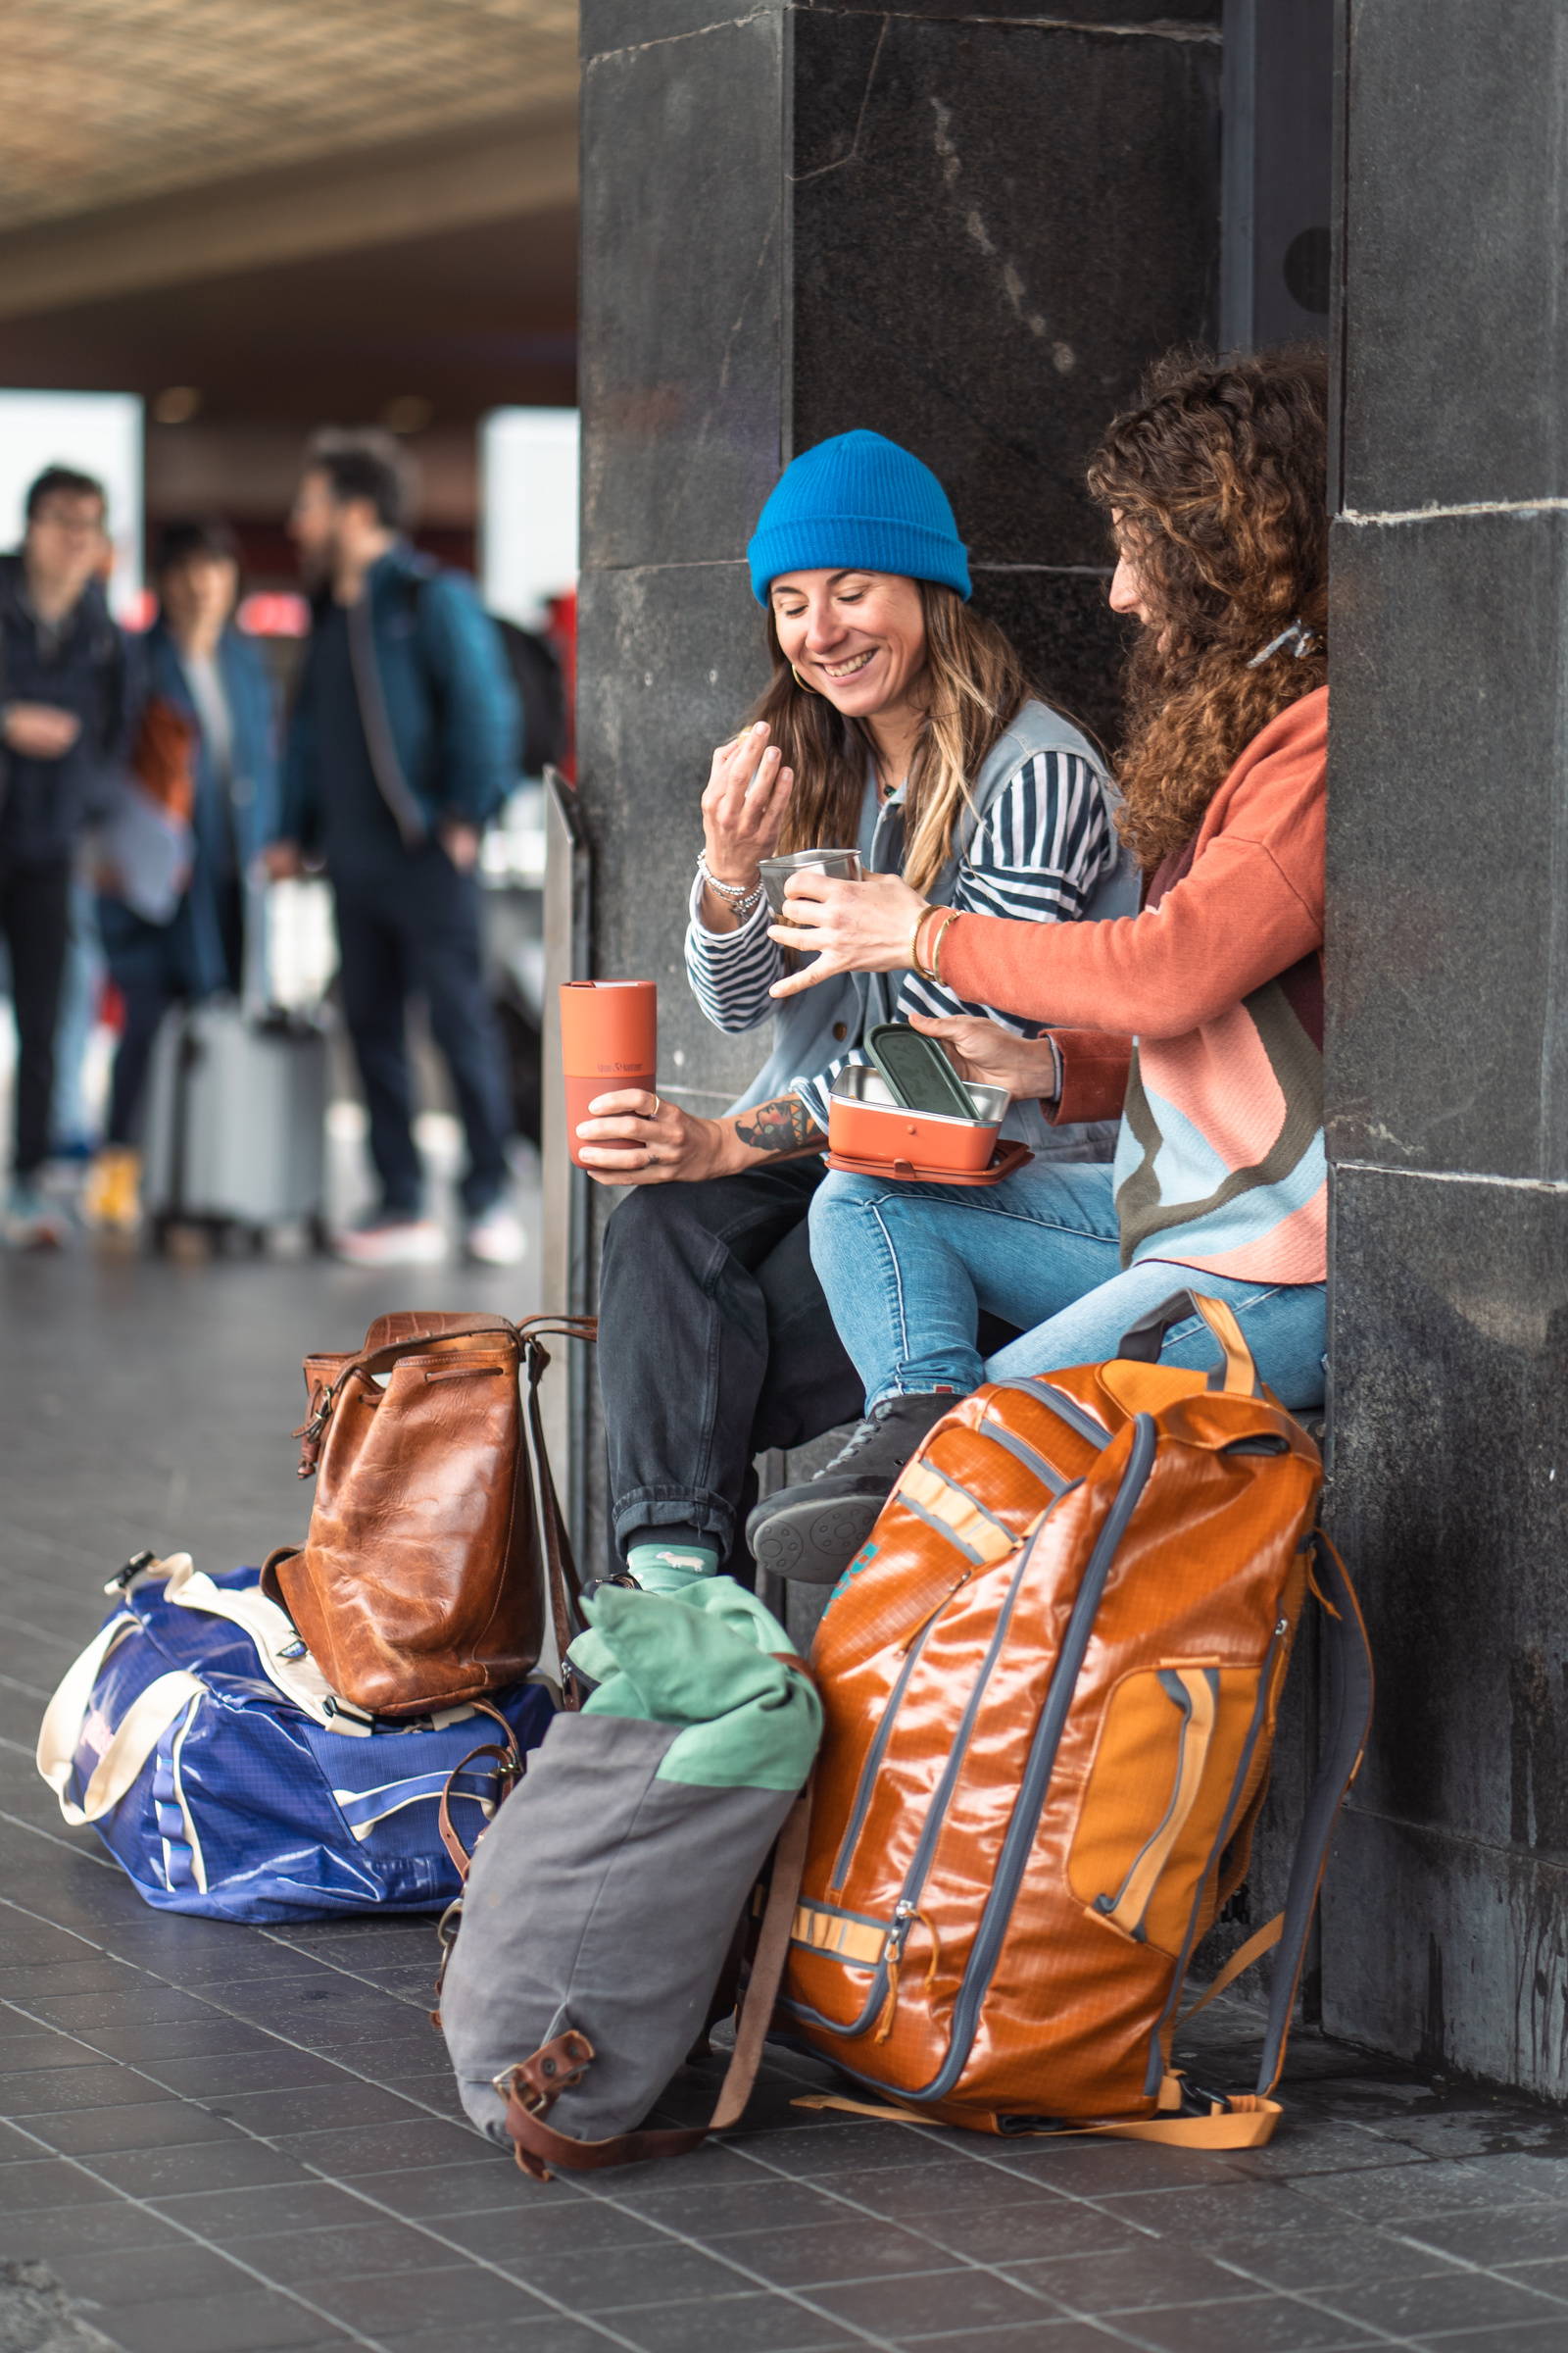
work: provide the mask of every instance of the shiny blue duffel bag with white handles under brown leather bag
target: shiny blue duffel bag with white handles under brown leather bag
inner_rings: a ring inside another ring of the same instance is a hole
[[[212,1920],[442,1911],[458,1873],[440,1798],[473,1847],[503,1795],[482,1711],[388,1722],[339,1699],[256,1569],[153,1560],[49,1701],[38,1769],[136,1894]],[[520,1751],[545,1737],[548,1682],[494,1694]],[[475,1753],[484,1748],[484,1755]]]

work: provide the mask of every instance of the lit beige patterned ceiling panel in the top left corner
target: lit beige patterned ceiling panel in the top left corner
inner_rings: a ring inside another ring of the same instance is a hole
[[[5,0],[0,231],[569,101],[576,0]]]

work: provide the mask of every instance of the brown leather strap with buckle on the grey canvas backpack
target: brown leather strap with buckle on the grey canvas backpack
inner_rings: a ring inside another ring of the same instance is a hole
[[[588,2174],[602,2172],[609,2165],[639,2165],[644,2158],[684,2158],[691,2148],[701,2148],[710,2132],[729,2132],[731,2125],[741,2122],[745,2104],[752,2097],[752,2085],[757,2082],[762,2049],[773,2024],[773,2002],[783,1984],[795,1904],[806,1868],[809,1828],[811,1791],[804,1788],[773,1847],[773,1875],[762,1913],[757,1953],[752,1955],[752,1974],[736,2014],[736,2047],[724,2068],[724,2082],[719,2085],[719,2097],[708,2122],[668,2129],[639,2127],[637,2132],[616,2132],[604,2141],[574,2141],[571,2134],[557,2132],[548,2120],[550,2108],[562,2092],[583,2080],[595,2059],[588,2035],[567,2028],[564,2035],[555,2035],[531,2059],[524,2059],[522,2066],[501,2078],[501,2087],[505,2089],[505,2129],[524,2174],[531,2174],[534,2181],[548,2181],[550,2167]]]

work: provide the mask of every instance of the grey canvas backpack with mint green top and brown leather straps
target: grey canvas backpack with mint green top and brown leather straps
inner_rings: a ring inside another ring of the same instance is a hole
[[[679,2155],[738,2122],[790,1939],[823,1720],[783,1628],[726,1577],[682,1595],[602,1586],[585,1614],[571,1664],[597,1689],[555,1718],[480,1840],[440,1991],[463,2108],[541,2181]],[[717,2108],[701,2127],[649,2129],[712,2019],[769,1854]]]

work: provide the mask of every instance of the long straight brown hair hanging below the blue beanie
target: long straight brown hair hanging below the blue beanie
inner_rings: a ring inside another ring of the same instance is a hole
[[[1034,694],[1013,645],[994,621],[980,619],[957,588],[917,581],[926,619],[926,708],[905,791],[903,878],[929,889],[952,856],[952,838],[969,788],[1001,732]],[[846,720],[825,694],[802,687],[766,616],[773,675],[752,720],[766,720],[795,791],[778,847],[851,847],[860,833],[865,765],[875,753],[860,720]]]

